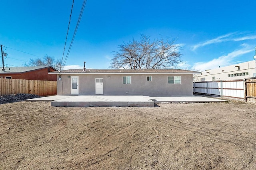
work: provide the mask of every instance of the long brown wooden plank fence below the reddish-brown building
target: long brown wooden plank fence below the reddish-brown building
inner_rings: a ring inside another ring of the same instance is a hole
[[[45,80],[21,80],[0,78],[0,95],[36,94],[50,96],[57,94],[57,82]]]

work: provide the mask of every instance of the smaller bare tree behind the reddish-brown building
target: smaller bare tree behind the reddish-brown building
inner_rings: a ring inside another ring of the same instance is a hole
[[[51,56],[44,56],[44,59],[30,59],[30,61],[27,63],[24,63],[24,66],[52,66],[56,70],[59,70],[59,63],[60,60],[55,60],[54,57]]]

